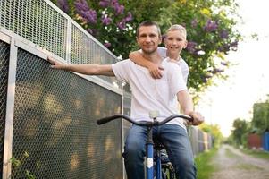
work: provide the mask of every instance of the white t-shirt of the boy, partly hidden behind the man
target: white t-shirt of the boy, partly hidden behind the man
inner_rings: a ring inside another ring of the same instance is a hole
[[[167,57],[167,48],[166,47],[158,47],[157,49],[158,54],[161,55],[161,57],[164,59]],[[183,79],[187,84],[188,81],[188,76],[189,76],[189,66],[188,64],[183,60],[183,58],[181,58],[180,56],[180,60],[177,61],[175,64],[178,64],[181,67],[181,72],[183,75]]]

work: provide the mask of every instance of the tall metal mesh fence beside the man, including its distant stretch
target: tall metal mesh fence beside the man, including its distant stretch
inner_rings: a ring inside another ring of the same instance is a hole
[[[124,177],[122,139],[130,124],[97,127],[95,119],[129,115],[130,95],[114,78],[53,71],[47,55],[67,64],[117,61],[50,1],[1,0],[0,159],[4,163],[0,171],[4,179],[26,178],[26,171],[37,178]],[[205,143],[205,134],[192,131],[197,140],[191,138],[194,152],[209,149],[212,140],[207,136]],[[21,164],[11,165],[12,157]]]

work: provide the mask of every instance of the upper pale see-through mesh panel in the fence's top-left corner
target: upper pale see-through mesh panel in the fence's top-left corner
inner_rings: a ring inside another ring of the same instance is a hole
[[[1,0],[0,25],[65,58],[67,19],[43,0]]]

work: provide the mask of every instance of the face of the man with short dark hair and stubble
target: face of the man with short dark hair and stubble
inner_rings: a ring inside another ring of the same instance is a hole
[[[137,42],[142,51],[146,54],[152,54],[156,51],[158,45],[162,42],[156,26],[141,26]]]

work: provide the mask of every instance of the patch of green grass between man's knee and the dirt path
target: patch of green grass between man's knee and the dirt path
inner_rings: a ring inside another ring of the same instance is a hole
[[[198,169],[198,179],[208,179],[210,175],[216,171],[216,167],[212,164],[211,159],[216,154],[217,149],[211,149],[207,152],[199,154],[195,158],[195,163]]]

